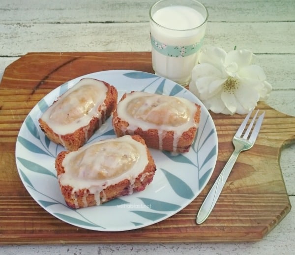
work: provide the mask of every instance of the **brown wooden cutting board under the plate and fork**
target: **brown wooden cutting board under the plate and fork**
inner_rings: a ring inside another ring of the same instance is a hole
[[[196,213],[233,151],[232,137],[244,116],[210,113],[219,139],[216,168],[203,192],[169,219],[136,230],[100,232],[66,224],[41,208],[29,196],[15,164],[16,138],[25,117],[64,82],[114,69],[152,73],[150,53],[29,53],[6,68],[0,84],[1,244],[255,241],[279,224],[291,210],[279,157],[281,148],[295,141],[295,118],[264,103],[258,105],[266,116],[256,144],[240,154],[202,225],[196,225]]]

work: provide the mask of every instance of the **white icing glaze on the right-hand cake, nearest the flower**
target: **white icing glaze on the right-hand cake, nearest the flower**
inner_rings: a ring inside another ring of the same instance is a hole
[[[197,106],[185,98],[158,95],[135,91],[126,94],[124,100],[118,103],[118,117],[129,123],[125,134],[133,134],[137,128],[143,131],[157,129],[159,149],[162,149],[163,139],[168,131],[174,132],[173,147],[177,148],[178,140],[191,127],[198,128],[194,115]]]

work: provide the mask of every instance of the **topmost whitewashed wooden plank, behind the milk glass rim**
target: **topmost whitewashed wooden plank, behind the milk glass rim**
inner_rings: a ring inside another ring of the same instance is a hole
[[[155,0],[51,0],[36,1],[28,6],[24,1],[1,1],[0,22],[18,23],[131,23],[148,22],[148,9]],[[293,0],[203,0],[212,22],[277,22],[294,20]],[[17,7],[15,7],[17,6]],[[54,6],[54,7],[53,7]],[[253,8],[255,6],[255,8]],[[99,8],[99,15],[97,13]],[[226,15],[225,15],[226,13]],[[29,25],[27,25],[29,26]]]

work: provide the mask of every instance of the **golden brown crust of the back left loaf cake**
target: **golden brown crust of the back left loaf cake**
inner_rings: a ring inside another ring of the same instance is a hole
[[[114,86],[104,81],[101,82],[108,88],[106,99],[104,101],[106,105],[106,112],[101,111],[102,114],[100,118],[94,116],[89,121],[87,126],[83,126],[71,134],[58,135],[48,126],[45,121],[39,118],[41,130],[51,141],[64,146],[70,151],[77,150],[88,141],[88,139],[100,127],[100,124],[103,124],[105,120],[111,116],[117,107],[118,91]],[[98,112],[100,112],[100,108],[98,109]]]

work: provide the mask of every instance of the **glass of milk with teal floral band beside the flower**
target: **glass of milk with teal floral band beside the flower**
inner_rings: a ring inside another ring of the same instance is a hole
[[[208,20],[196,0],[159,0],[149,10],[152,68],[186,86],[198,61]]]

